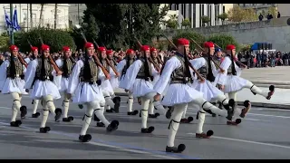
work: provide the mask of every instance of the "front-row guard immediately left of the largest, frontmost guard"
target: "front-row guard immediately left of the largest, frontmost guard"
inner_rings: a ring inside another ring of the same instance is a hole
[[[156,91],[153,90],[153,85],[150,81],[158,72],[148,61],[148,57],[150,57],[150,47],[148,45],[141,46],[140,58],[131,64],[123,77],[124,79],[120,82],[121,88],[125,89],[125,91],[131,91],[133,97],[141,100],[141,133],[151,133],[154,130],[153,126],[147,127],[150,101],[153,101],[154,106],[164,115],[166,112],[160,101],[155,101],[154,99]]]

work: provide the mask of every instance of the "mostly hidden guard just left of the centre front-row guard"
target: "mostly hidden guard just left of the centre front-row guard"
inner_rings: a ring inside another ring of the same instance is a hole
[[[128,49],[126,51],[126,57],[121,60],[121,62],[118,63],[117,65],[117,70],[121,74],[120,77],[120,82],[122,82],[125,78],[125,74],[128,70],[128,68],[131,66],[133,62],[135,62],[135,52],[132,49]],[[132,95],[132,91],[128,91],[128,111],[127,115],[136,115],[139,113],[138,110],[132,110],[133,108],[133,102],[134,102],[134,97]]]

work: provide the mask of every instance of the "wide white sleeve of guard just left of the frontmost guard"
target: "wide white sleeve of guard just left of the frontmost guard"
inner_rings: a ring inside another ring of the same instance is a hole
[[[129,90],[131,86],[134,84],[137,74],[140,71],[140,67],[142,65],[142,62],[140,60],[137,60],[131,64],[131,66],[127,69],[127,72],[124,79],[121,82],[120,87],[125,90]]]

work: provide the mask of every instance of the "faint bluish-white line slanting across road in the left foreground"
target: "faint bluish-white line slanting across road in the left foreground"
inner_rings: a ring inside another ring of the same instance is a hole
[[[5,122],[0,122],[0,124],[5,125],[5,126],[10,126],[10,123],[5,123]],[[21,125],[19,128],[24,128],[24,129],[32,129],[34,131],[38,131],[38,129],[30,128],[24,125]],[[62,131],[49,131],[49,133],[53,133],[55,135],[61,135],[61,136],[67,136],[70,138],[78,138],[78,134],[74,133],[64,133]],[[111,141],[103,141],[102,139],[92,139],[90,142],[86,142],[88,144],[96,145],[96,146],[102,146],[102,147],[108,147],[112,149],[120,149],[122,151],[130,151],[133,153],[140,153],[140,154],[148,154],[150,156],[156,157],[156,158],[167,158],[167,159],[200,159],[200,158],[193,158],[190,156],[186,155],[180,155],[180,154],[175,154],[175,153],[167,153],[163,151],[158,151],[158,150],[152,150],[152,149],[142,149],[139,147],[133,147],[130,145],[126,144],[121,144],[121,143],[116,143],[116,142],[111,142]]]

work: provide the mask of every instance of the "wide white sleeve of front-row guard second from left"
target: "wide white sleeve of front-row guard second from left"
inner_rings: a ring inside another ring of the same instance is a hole
[[[30,89],[32,87],[37,64],[38,64],[37,60],[29,62],[26,72],[24,73],[24,81],[25,81],[24,89]]]

